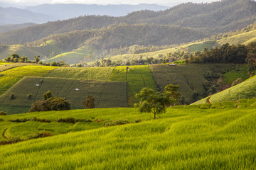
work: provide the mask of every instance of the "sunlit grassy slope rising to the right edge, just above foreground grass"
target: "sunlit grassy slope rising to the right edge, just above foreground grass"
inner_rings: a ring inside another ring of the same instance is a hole
[[[210,97],[210,103],[223,102],[223,101],[236,101],[240,98],[255,98],[256,96],[256,77],[251,77],[242,83],[232,86],[229,89],[220,91],[218,94],[213,94]],[[208,98],[208,97],[207,97]],[[203,98],[193,104],[206,103]]]

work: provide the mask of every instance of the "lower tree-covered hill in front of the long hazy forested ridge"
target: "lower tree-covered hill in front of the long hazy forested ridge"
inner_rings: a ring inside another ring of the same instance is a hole
[[[110,50],[120,46],[131,45],[171,45],[181,42],[198,40],[206,35],[191,28],[179,26],[160,26],[154,24],[126,24],[110,25],[107,28],[95,30],[75,30],[70,33],[51,35],[31,45],[41,45],[47,40],[54,40],[58,47],[73,50],[81,46],[93,50]],[[28,44],[29,45],[29,44]]]

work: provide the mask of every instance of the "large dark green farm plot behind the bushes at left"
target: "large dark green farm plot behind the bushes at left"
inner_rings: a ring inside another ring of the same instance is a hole
[[[25,77],[0,97],[0,103],[6,106],[31,106],[50,90],[53,96],[67,98],[73,108],[83,108],[82,103],[87,95],[95,97],[97,108],[126,107],[126,89],[126,83],[121,81]],[[15,99],[9,98],[11,93]],[[32,95],[31,98],[28,98],[28,94]]]

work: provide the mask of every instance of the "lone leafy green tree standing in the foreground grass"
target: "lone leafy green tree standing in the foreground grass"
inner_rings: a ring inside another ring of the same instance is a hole
[[[169,93],[161,94],[146,87],[136,94],[136,98],[139,99],[139,103],[136,103],[134,107],[139,108],[140,113],[153,113],[154,119],[157,114],[166,113],[166,106],[174,102]]]

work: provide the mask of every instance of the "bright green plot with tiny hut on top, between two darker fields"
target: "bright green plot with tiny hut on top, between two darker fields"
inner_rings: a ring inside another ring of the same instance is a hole
[[[135,94],[138,94],[143,87],[156,90],[156,84],[149,66],[129,66],[129,68],[129,71],[127,71],[127,66],[115,67],[110,80],[127,82],[127,101],[128,105],[132,106],[137,101]]]

